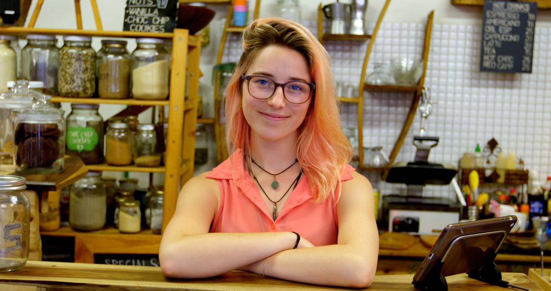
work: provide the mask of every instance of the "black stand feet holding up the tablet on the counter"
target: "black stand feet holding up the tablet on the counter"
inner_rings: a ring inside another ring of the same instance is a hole
[[[489,255],[479,270],[468,272],[469,278],[477,279],[491,285],[507,288],[509,282],[501,279],[501,271],[498,265],[495,264],[494,258],[497,254]],[[427,276],[424,281],[412,282],[415,289],[419,290],[447,290],[446,277],[440,273],[444,264],[440,261],[433,267],[433,271]]]

